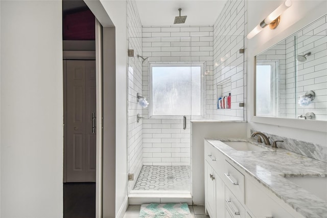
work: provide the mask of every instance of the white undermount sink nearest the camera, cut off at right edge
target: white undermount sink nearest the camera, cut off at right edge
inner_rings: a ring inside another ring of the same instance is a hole
[[[285,179],[327,201],[327,177],[285,177]]]

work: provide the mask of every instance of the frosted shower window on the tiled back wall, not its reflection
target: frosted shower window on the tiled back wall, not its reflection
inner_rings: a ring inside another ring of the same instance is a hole
[[[150,116],[203,116],[203,63],[150,64]]]

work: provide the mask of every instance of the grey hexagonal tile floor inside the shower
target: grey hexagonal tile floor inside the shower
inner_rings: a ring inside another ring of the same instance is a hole
[[[143,166],[133,190],[191,190],[190,166]]]

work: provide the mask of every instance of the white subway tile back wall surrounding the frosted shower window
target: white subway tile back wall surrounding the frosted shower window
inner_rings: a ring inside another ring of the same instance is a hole
[[[205,85],[212,84],[213,26],[143,27],[143,55],[149,62],[205,63]],[[149,96],[149,63],[143,64],[143,95]],[[207,90],[212,94],[212,90]],[[151,100],[149,100],[151,104]],[[149,108],[143,110],[149,118]],[[143,120],[144,165],[190,165],[190,119]]]

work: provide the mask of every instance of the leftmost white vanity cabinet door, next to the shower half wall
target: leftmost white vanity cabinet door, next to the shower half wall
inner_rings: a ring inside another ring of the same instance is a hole
[[[209,216],[215,217],[216,214],[216,180],[214,170],[205,161],[205,209]]]

